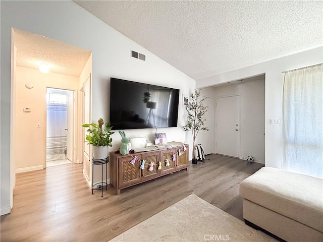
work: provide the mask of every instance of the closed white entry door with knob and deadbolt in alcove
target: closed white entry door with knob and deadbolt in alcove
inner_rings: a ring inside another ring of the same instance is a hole
[[[239,157],[240,96],[217,98],[216,113],[217,153]]]

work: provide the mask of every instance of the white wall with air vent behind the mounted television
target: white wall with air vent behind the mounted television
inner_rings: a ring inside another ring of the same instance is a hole
[[[70,1],[1,1],[1,209],[10,204],[11,28],[40,34],[92,51],[92,121],[109,120],[111,77],[163,85],[191,93],[195,81]],[[19,17],[18,17],[19,16]],[[130,49],[146,61],[130,58]],[[184,142],[184,109],[178,128],[160,129],[168,139]],[[127,136],[152,137],[154,130],[131,130]],[[113,149],[121,144],[113,136]],[[190,144],[190,143],[189,143]],[[191,145],[191,144],[190,144]],[[1,210],[3,211],[3,210]]]

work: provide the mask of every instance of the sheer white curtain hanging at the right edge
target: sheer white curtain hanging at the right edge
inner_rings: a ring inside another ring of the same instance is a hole
[[[323,65],[285,73],[282,168],[323,176]]]

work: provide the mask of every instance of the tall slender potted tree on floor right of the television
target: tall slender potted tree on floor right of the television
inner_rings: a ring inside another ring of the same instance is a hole
[[[205,113],[207,111],[208,106],[204,106],[203,102],[204,98],[200,98],[201,93],[200,90],[195,89],[195,91],[190,95],[190,100],[186,105],[187,111],[187,120],[186,125],[182,128],[185,131],[191,131],[193,136],[193,159],[192,163],[197,164],[197,160],[195,157],[195,139],[200,130],[207,130],[207,127],[204,127],[205,122]]]

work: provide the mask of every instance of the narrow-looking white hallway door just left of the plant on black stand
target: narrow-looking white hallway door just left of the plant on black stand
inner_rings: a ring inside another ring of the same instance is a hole
[[[91,123],[91,77],[89,77],[84,83],[83,88],[83,124]],[[86,132],[83,128],[83,171],[87,179],[90,180],[91,177],[91,153],[90,145],[86,142]]]

